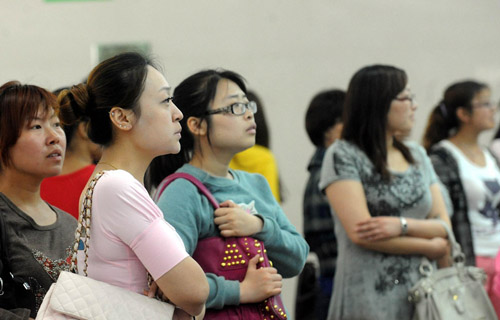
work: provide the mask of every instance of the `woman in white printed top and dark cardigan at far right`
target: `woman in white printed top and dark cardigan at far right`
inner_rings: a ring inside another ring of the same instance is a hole
[[[495,127],[495,112],[486,84],[457,82],[432,111],[424,135],[424,147],[451,196],[455,237],[466,263],[488,274],[488,293],[500,247],[500,170],[479,136]]]

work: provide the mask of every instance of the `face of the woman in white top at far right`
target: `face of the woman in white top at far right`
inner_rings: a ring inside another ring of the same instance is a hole
[[[471,101],[472,114],[470,124],[477,131],[495,127],[496,106],[491,102],[491,91],[487,88],[479,91]]]

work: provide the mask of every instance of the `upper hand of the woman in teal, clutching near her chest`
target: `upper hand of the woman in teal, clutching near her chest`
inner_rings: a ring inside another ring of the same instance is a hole
[[[251,236],[262,231],[264,225],[262,219],[245,212],[231,200],[222,202],[214,214],[214,222],[223,237]]]

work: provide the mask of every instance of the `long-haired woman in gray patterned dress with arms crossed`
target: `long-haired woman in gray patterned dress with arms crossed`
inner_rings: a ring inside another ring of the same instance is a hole
[[[335,219],[338,262],[329,320],[411,319],[408,289],[422,256],[446,260],[448,214],[423,148],[394,138],[417,104],[406,73],[362,68],[351,79],[342,138],[326,152],[320,187]]]

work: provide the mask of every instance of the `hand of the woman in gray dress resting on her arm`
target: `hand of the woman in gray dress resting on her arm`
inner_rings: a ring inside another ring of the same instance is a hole
[[[356,224],[356,233],[366,241],[378,241],[401,235],[398,217],[373,217]]]

